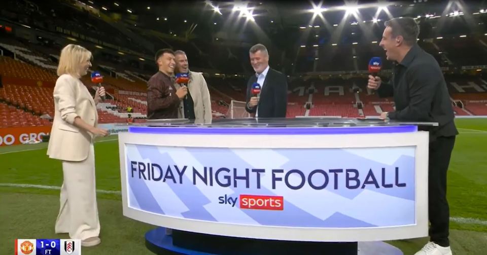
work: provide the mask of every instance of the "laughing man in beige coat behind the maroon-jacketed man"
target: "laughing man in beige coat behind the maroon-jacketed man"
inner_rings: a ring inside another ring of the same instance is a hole
[[[212,102],[210,91],[201,72],[189,70],[188,57],[184,51],[175,51],[175,74],[188,74],[189,83],[175,84],[176,89],[182,86],[188,87],[188,94],[181,100],[178,118],[194,119],[197,124],[212,123]]]

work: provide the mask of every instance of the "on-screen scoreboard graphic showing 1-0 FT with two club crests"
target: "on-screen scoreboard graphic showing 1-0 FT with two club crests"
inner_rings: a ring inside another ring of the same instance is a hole
[[[15,255],[81,255],[81,240],[16,239]]]

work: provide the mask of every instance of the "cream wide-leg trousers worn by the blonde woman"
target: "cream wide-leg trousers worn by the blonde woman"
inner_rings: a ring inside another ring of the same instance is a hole
[[[63,183],[55,232],[85,240],[100,234],[93,143],[84,161],[62,161]]]

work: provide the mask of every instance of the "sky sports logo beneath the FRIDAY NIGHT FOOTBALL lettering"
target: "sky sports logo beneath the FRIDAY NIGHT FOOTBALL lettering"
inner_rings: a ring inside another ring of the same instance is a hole
[[[240,195],[238,197],[221,196],[218,197],[218,203],[235,207],[239,202],[240,209],[255,210],[284,210],[284,197],[281,196],[258,196],[258,195]]]

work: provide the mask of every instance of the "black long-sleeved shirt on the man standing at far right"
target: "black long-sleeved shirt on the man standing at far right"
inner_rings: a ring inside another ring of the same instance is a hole
[[[399,121],[437,122],[433,136],[458,134],[445,79],[436,59],[418,44],[393,69],[391,84],[377,90],[380,97],[394,96],[396,111],[388,117]]]

